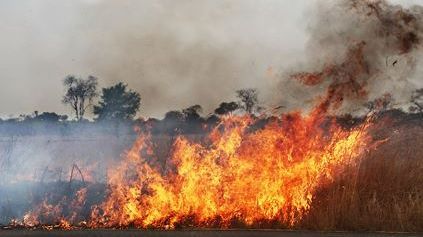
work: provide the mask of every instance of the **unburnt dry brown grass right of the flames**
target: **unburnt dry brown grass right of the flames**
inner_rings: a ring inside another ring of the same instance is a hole
[[[315,196],[300,228],[423,231],[423,128],[393,126],[389,137]]]

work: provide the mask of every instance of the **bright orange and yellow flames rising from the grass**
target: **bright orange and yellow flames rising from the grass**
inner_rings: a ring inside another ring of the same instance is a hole
[[[254,130],[255,122],[232,116],[202,141],[177,137],[164,168],[153,165],[150,136],[140,135],[110,170],[109,194],[88,225],[293,226],[307,214],[314,191],[357,162],[369,142],[368,123],[348,131],[300,113]]]

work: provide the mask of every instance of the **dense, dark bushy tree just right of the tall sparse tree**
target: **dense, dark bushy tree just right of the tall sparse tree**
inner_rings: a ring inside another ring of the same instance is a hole
[[[98,120],[133,119],[140,109],[141,96],[138,92],[128,90],[127,85],[119,82],[114,86],[103,88],[94,114]]]

